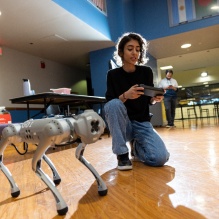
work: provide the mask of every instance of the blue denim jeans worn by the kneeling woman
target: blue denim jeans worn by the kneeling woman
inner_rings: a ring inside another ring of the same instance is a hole
[[[123,102],[113,99],[104,106],[112,135],[114,154],[128,153],[127,141],[134,139],[134,154],[149,166],[163,166],[169,159],[165,144],[150,122],[130,121]]]

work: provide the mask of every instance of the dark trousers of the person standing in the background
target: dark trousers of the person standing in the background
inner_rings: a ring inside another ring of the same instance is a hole
[[[174,125],[176,112],[176,97],[164,97],[164,106],[168,125]]]

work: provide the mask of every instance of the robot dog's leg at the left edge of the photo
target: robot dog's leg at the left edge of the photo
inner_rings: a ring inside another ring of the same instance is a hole
[[[17,184],[15,183],[11,172],[8,170],[8,168],[3,164],[3,152],[5,150],[5,148],[8,145],[9,140],[6,139],[2,139],[0,142],[0,169],[1,171],[5,174],[5,176],[7,177],[10,186],[11,186],[11,196],[12,197],[18,197],[20,195],[20,189],[18,188]]]

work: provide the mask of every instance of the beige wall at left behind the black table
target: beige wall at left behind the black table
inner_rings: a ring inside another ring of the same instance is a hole
[[[45,69],[40,62],[45,62]],[[23,96],[23,78],[30,80],[35,93],[50,92],[50,88],[72,88],[86,79],[78,69],[41,59],[9,48],[3,48],[0,56],[0,106],[15,107],[9,99]],[[74,87],[78,94],[86,94],[86,82]],[[17,105],[18,106],[18,105]]]

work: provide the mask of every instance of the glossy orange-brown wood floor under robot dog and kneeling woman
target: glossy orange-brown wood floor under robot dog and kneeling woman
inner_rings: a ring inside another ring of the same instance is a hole
[[[89,145],[85,157],[106,182],[108,194],[99,196],[93,175],[75,158],[75,148],[48,150],[62,177],[58,190],[69,211],[57,215],[55,200],[31,169],[35,146],[26,155],[7,147],[4,163],[21,190],[11,198],[0,172],[1,219],[146,219],[219,218],[219,124],[214,118],[176,121],[176,128],[156,128],[171,154],[164,167],[133,162],[131,171],[118,171],[107,135]],[[51,171],[43,162],[44,171]]]

